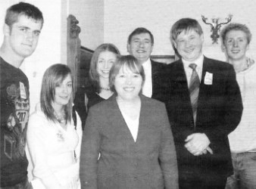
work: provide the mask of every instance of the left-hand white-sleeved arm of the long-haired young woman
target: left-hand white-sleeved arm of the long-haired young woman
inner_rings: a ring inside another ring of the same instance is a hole
[[[47,151],[44,141],[47,140],[45,135],[45,125],[39,116],[31,116],[27,129],[27,146],[33,163],[33,175],[40,178],[47,189],[61,189],[54,173],[47,163]]]

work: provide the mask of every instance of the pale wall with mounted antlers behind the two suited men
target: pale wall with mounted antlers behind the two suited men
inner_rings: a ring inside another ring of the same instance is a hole
[[[153,55],[173,55],[170,27],[180,18],[192,17],[199,21],[204,31],[204,54],[226,60],[220,49],[220,39],[218,44],[212,44],[211,27],[203,23],[201,15],[208,17],[208,21],[219,17],[220,23],[233,14],[232,22],[245,23],[251,29],[253,39],[248,55],[255,57],[255,8],[254,0],[105,0],[104,42],[114,43],[122,54],[127,54],[127,37],[136,27],[143,26],[155,37]]]

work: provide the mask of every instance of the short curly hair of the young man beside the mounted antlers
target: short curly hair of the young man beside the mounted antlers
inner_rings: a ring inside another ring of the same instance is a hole
[[[220,36],[223,40],[223,44],[226,41],[226,33],[232,30],[244,32],[246,34],[248,44],[251,42],[251,31],[250,29],[248,29],[248,26],[242,23],[229,23],[221,30],[220,33]]]

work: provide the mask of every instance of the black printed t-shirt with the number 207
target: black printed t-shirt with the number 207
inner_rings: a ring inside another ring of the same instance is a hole
[[[0,57],[1,187],[27,179],[25,153],[30,93],[27,76]]]

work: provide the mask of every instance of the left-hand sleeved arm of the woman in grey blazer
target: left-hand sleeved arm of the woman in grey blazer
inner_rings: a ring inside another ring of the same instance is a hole
[[[83,131],[80,156],[80,179],[82,188],[97,189],[97,166],[100,147],[97,110],[90,108]]]

